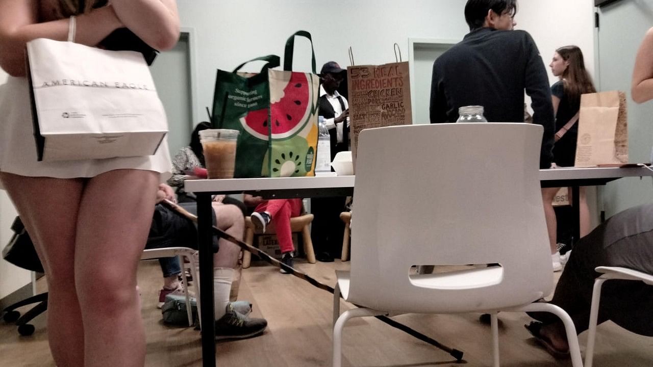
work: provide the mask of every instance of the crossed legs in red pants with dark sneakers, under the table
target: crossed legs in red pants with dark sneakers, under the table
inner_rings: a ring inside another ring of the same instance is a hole
[[[257,198],[253,198],[257,199]],[[293,267],[293,235],[290,228],[290,219],[302,214],[302,199],[272,199],[262,200],[251,214],[251,222],[259,232],[265,232],[265,227],[274,222],[277,229],[277,238],[281,248],[281,262]],[[281,273],[288,274],[283,268]]]

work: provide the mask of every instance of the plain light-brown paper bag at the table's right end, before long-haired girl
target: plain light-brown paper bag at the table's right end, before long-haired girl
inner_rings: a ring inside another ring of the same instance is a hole
[[[581,95],[576,167],[628,163],[626,94],[605,91]]]

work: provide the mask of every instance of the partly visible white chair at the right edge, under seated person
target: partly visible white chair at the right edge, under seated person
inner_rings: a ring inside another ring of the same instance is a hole
[[[606,280],[624,279],[643,281],[648,285],[653,285],[653,275],[632,270],[629,268],[620,268],[618,266],[597,266],[597,272],[603,273],[594,281],[594,291],[592,291],[592,308],[590,308],[590,325],[587,334],[587,347],[585,348],[585,367],[592,367],[594,359],[594,342],[596,342],[596,322],[599,317],[599,302],[601,300],[601,287]]]

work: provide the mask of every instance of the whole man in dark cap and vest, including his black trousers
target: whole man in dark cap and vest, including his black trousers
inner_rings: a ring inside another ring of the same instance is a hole
[[[332,161],[336,153],[349,150],[349,104],[337,90],[346,75],[347,71],[335,61],[325,63],[320,71],[319,116],[325,118],[331,137]],[[311,240],[319,261],[333,261],[334,257],[340,256],[345,231],[340,220],[343,210],[345,197],[311,199],[311,213],[315,216],[311,225]]]

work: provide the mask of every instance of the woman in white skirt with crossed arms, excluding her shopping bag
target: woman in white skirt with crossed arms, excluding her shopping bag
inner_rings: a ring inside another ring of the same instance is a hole
[[[76,25],[76,26],[75,26]],[[37,161],[25,42],[97,46],[127,27],[168,50],[179,37],[174,0],[0,0],[0,183],[33,238],[48,281],[48,337],[57,366],[143,366],[136,266],[157,183],[170,175],[167,144],[155,155]]]

